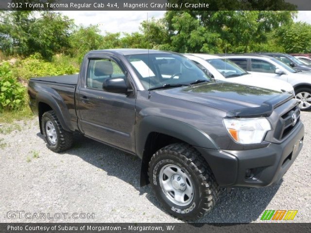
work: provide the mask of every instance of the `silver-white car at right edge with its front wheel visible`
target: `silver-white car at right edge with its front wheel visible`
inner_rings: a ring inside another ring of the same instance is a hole
[[[311,109],[311,74],[298,72],[279,60],[265,55],[227,55],[227,58],[250,73],[262,74],[291,83],[301,110]]]

